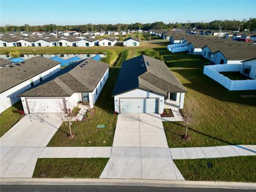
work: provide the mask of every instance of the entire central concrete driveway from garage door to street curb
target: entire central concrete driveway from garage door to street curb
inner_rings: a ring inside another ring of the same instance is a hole
[[[158,114],[119,114],[100,178],[184,180],[171,158]]]

